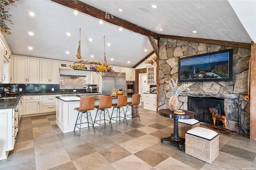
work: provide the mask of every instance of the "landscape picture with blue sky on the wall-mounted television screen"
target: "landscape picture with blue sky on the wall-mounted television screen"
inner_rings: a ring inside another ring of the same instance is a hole
[[[228,78],[229,52],[180,60],[180,79]]]

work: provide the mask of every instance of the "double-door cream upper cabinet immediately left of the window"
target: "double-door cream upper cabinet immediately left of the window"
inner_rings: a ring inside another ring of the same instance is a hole
[[[40,83],[59,84],[59,62],[40,60]]]

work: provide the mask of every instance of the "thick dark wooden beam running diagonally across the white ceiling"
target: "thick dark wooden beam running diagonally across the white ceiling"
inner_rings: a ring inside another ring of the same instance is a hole
[[[159,40],[156,33],[151,32],[149,30],[146,30],[140,26],[137,26],[135,24],[132,24],[126,20],[122,20],[121,18],[118,18],[112,14],[108,14],[107,12],[104,12],[102,10],[99,10],[97,8],[94,8],[93,6],[90,6],[88,4],[85,4],[84,2],[78,1],[78,0],[51,0],[53,2],[56,2],[58,4],[64,5],[68,8],[72,8],[74,10],[83,12],[84,14],[88,14],[90,16],[93,16],[95,18],[98,18],[100,20],[109,22],[111,24],[114,24],[116,26],[120,26],[122,28],[126,28],[128,30],[131,30],[133,32],[137,32],[139,34],[142,34],[144,36],[152,36],[154,39]]]

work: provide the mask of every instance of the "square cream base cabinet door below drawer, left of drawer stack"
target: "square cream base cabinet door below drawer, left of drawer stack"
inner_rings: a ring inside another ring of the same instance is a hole
[[[39,100],[23,100],[23,115],[39,113]]]

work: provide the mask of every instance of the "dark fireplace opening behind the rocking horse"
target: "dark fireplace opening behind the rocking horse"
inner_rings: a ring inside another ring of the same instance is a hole
[[[218,114],[225,115],[224,113],[224,99],[218,98],[201,98],[201,97],[188,97],[188,110],[196,113],[196,119],[204,123],[213,123],[212,113],[209,108],[214,107],[217,109]],[[216,125],[222,126],[221,121],[217,121]]]

